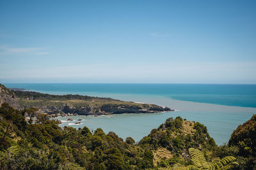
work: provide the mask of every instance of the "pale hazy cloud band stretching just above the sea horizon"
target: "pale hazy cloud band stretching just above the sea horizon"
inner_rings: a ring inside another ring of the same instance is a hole
[[[1,69],[0,76],[20,80],[77,80],[137,83],[256,83],[256,62],[159,62],[87,64]]]

